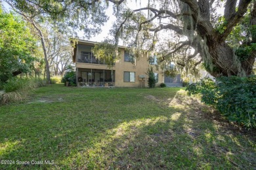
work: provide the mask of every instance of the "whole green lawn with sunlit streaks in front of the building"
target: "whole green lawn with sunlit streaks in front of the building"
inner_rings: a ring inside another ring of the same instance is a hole
[[[0,120],[0,160],[14,161],[0,169],[256,167],[255,131],[228,124],[182,88],[53,84],[1,106]]]

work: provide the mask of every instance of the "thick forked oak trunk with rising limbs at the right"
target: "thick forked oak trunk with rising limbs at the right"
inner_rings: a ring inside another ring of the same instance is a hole
[[[203,63],[205,65],[206,70],[212,76],[247,76],[251,75],[253,70],[253,63],[255,60],[256,52],[251,52],[251,56],[247,59],[240,59],[234,53],[234,50],[225,42],[226,37],[232,31],[232,27],[242,20],[249,1],[242,1],[240,7],[238,8],[238,12],[232,10],[229,13],[225,11],[225,16],[227,20],[226,29],[224,29],[223,33],[219,33],[213,28],[211,22],[209,21],[209,2],[205,0],[200,0],[198,3],[198,7],[200,8],[200,14],[198,14],[198,9],[196,8],[196,2],[184,0],[190,8],[194,15],[192,17],[194,21],[197,23],[196,31],[198,35],[203,39],[203,42],[200,44],[199,52],[203,58]],[[226,6],[230,6],[230,8],[234,9],[236,3],[227,3]],[[256,16],[256,3],[254,3],[254,8],[251,11],[251,23],[255,25],[255,16]],[[194,6],[193,6],[194,5]],[[228,8],[228,7],[226,7]],[[255,40],[253,40],[255,41]],[[249,42],[251,44],[253,41]]]

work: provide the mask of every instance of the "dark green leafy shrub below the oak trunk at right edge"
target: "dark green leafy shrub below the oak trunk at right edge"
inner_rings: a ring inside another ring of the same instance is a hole
[[[217,82],[205,78],[190,84],[186,90],[189,95],[201,94],[202,101],[213,105],[230,122],[243,126],[256,127],[256,76],[221,77]]]

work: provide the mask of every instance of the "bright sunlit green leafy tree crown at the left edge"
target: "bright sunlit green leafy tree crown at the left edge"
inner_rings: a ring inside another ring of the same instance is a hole
[[[28,73],[33,69],[35,39],[26,23],[12,13],[0,9],[0,81]]]

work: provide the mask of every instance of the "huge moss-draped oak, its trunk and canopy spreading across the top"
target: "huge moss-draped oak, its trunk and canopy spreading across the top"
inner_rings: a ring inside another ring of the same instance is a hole
[[[117,21],[112,33],[116,44],[123,39],[133,48],[147,48],[153,55],[158,52],[161,65],[175,61],[186,69],[188,65],[195,69],[202,62],[213,76],[247,76],[251,75],[255,62],[253,0],[150,0],[139,9],[129,9],[125,0],[12,2],[24,10],[29,10],[27,4],[35,5],[60,25],[66,23],[88,34],[98,33],[107,20],[108,5],[113,3]],[[221,8],[224,14],[218,16],[217,10]],[[239,41],[234,41],[234,35]],[[192,51],[194,54],[190,54]]]

